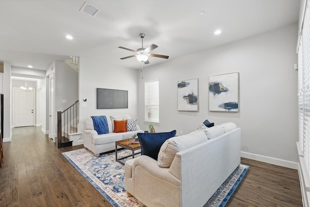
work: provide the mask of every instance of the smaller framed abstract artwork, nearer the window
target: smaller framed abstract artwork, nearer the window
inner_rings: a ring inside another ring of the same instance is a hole
[[[198,79],[178,81],[178,111],[198,111]]]

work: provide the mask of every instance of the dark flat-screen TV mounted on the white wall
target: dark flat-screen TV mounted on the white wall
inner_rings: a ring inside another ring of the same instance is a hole
[[[127,109],[128,91],[97,88],[97,109]]]

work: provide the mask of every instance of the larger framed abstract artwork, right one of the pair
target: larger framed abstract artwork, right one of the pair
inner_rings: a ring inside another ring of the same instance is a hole
[[[239,111],[239,73],[209,76],[209,111]]]

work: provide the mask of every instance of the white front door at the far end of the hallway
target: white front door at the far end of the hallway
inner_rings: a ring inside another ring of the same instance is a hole
[[[15,89],[14,126],[27,127],[34,123],[34,91]]]

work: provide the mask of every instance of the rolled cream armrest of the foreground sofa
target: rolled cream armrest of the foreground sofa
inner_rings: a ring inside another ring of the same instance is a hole
[[[169,168],[159,167],[157,161],[146,155],[141,155],[134,159],[132,163],[132,178],[135,179],[135,171],[142,168],[142,171],[156,177],[158,180],[167,181],[174,185],[180,185],[181,181],[171,175]]]

